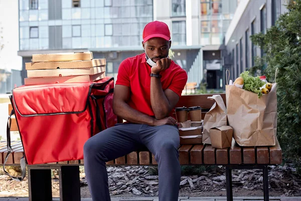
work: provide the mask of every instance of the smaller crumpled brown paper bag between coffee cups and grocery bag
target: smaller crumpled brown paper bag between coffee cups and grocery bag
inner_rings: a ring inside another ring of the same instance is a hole
[[[206,113],[203,126],[203,143],[211,144],[209,130],[214,127],[227,126],[227,109],[221,95],[213,95],[208,99],[215,100],[210,111]]]

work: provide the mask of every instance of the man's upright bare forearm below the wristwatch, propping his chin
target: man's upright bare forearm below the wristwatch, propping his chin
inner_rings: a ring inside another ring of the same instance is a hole
[[[161,80],[157,77],[150,80],[150,103],[156,119],[163,119],[169,115],[171,106],[163,91]]]

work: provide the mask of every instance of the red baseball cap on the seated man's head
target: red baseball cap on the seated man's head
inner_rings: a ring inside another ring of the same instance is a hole
[[[143,42],[151,38],[163,38],[167,41],[171,40],[171,33],[167,24],[164,22],[154,21],[145,25],[142,33]]]

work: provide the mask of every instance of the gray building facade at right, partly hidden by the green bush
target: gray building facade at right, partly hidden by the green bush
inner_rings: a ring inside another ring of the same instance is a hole
[[[255,46],[250,36],[275,25],[279,16],[287,9],[287,0],[240,0],[227,33],[225,35],[225,69],[230,70],[231,79],[255,65],[256,57],[264,52]],[[225,84],[225,83],[224,83]]]

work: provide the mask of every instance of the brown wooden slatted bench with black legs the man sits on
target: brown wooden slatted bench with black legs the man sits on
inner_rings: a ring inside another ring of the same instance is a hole
[[[212,105],[213,100],[207,99],[212,94],[182,96],[177,107],[202,107],[202,119]],[[225,102],[225,94],[221,94]],[[9,107],[9,113],[11,106]],[[118,119],[122,122],[122,119]],[[12,131],[18,131],[16,121],[12,122]],[[7,165],[18,165],[23,156],[20,141],[12,142],[14,153],[11,154]],[[6,155],[6,142],[0,141],[0,163]],[[268,200],[268,165],[282,163],[281,148],[276,143],[269,147],[240,147],[234,140],[231,148],[216,149],[211,145],[182,145],[179,147],[179,160],[181,165],[222,165],[226,168],[227,200],[232,196],[232,169],[262,169],[264,200]],[[83,160],[63,161],[49,164],[28,165],[29,199],[52,200],[51,169],[59,170],[60,200],[80,200],[79,166],[84,165]],[[110,166],[121,165],[157,165],[154,155],[148,150],[141,150],[127,154],[107,162]]]

